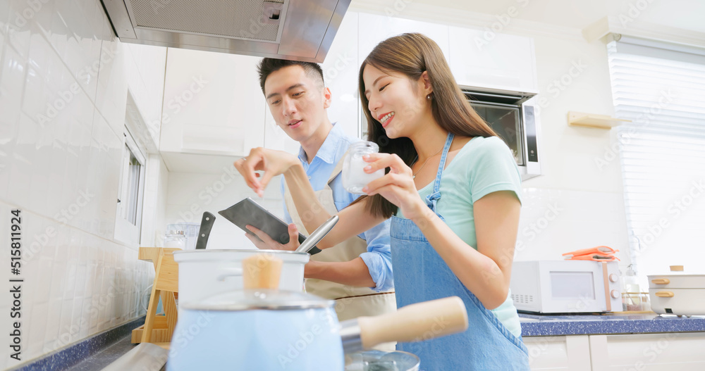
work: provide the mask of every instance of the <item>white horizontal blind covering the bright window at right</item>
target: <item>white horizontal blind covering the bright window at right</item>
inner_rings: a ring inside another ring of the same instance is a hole
[[[705,51],[623,37],[608,58],[632,120],[617,128],[632,263],[705,272]]]

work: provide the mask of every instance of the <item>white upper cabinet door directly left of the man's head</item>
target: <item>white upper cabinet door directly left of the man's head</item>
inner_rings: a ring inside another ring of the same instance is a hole
[[[159,150],[245,156],[264,145],[259,59],[169,48]]]

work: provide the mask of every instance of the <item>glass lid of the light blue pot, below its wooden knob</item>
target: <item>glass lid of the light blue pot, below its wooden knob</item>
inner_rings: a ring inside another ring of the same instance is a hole
[[[209,296],[204,300],[183,303],[191,310],[296,310],[333,308],[335,301],[303,292],[247,289]]]

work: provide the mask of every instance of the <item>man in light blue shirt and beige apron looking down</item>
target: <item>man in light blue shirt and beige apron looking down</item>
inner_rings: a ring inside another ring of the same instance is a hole
[[[331,91],[324,85],[321,67],[317,63],[264,58],[257,69],[276,124],[301,144],[298,158],[317,198],[328,213],[338,213],[357,198],[343,189],[341,170],[348,146],[360,139],[346,136],[341,127],[331,124],[326,112],[331,105]],[[235,165],[243,172],[242,164]],[[289,227],[290,236],[294,237],[296,228],[306,229],[295,212],[283,177],[281,190],[285,219],[295,225]],[[265,241],[263,244],[248,234],[258,247],[274,243],[261,231],[251,230]],[[339,320],[396,310],[388,220],[358,237],[324,249],[311,260],[305,268],[306,290],[336,299]]]

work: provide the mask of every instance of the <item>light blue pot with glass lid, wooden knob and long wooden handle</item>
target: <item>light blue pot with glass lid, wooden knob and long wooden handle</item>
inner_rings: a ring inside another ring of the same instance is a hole
[[[276,264],[276,258],[248,258],[244,290],[183,303],[167,370],[344,370],[345,353],[467,329],[465,305],[456,296],[338,323],[334,301],[277,290]],[[247,279],[249,273],[259,278]]]

